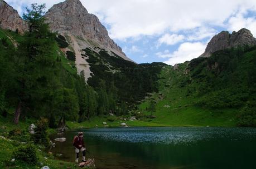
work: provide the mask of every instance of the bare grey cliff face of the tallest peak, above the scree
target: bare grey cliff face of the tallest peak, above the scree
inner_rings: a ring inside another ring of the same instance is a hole
[[[50,23],[52,31],[92,39],[125,56],[122,48],[110,39],[107,29],[100,23],[99,19],[94,14],[88,13],[79,0],[66,0],[55,4],[49,9],[45,17]]]

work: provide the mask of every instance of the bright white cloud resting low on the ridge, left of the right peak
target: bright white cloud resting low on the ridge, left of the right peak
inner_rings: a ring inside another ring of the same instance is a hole
[[[204,53],[206,47],[206,43],[201,42],[185,42],[178,47],[177,51],[172,53],[163,52],[162,57],[167,56],[169,59],[164,63],[174,65],[176,63],[183,63],[186,61],[190,61],[196,57],[199,57],[202,53]],[[159,53],[158,53],[159,54]],[[161,57],[160,54],[158,57]]]

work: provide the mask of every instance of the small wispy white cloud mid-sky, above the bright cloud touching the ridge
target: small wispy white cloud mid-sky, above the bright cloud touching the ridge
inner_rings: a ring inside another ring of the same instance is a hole
[[[183,36],[182,34],[169,34],[166,33],[164,34],[162,37],[160,37],[158,39],[158,43],[157,46],[161,46],[161,44],[168,44],[168,45],[173,45],[179,42],[182,42],[183,39],[185,39],[185,36]]]

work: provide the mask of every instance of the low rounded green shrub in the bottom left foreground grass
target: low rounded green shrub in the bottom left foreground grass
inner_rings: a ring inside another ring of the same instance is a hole
[[[36,148],[33,145],[18,146],[15,151],[13,151],[13,158],[30,165],[35,165],[38,161]]]

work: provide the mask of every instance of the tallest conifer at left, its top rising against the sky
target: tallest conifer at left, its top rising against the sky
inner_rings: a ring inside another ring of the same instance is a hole
[[[23,14],[30,28],[26,32],[16,53],[16,93],[15,124],[20,119],[24,108],[26,111],[35,111],[35,106],[41,106],[49,100],[49,93],[56,61],[52,57],[55,45],[55,34],[49,31],[49,25],[45,23],[45,4],[31,5]],[[24,110],[25,111],[25,110]]]

